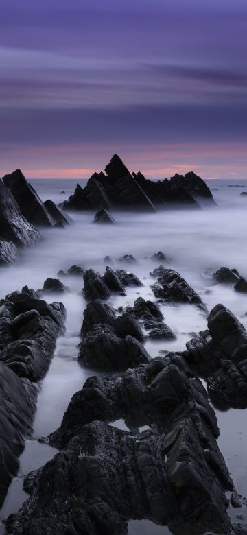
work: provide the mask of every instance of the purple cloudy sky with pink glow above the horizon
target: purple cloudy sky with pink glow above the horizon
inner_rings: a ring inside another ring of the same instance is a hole
[[[0,176],[247,178],[246,0],[1,0]]]

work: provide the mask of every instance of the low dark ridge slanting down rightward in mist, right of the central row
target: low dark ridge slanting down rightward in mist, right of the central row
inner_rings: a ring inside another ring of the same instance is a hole
[[[162,270],[161,270],[162,268]],[[204,312],[207,308],[200,296],[189,286],[180,273],[160,266],[154,270],[158,274],[158,283],[151,286],[154,296],[165,302],[187,302],[197,305]],[[152,276],[154,276],[154,272]]]

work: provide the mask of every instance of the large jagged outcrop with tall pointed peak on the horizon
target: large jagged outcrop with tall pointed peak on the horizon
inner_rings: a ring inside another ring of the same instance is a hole
[[[77,185],[75,193],[62,206],[71,210],[128,209],[155,212],[172,206],[199,208],[195,196],[213,196],[202,178],[188,173],[178,180],[154,182],[140,172],[131,174],[117,154],[106,165],[106,174],[94,173],[86,186]],[[182,180],[183,178],[183,180]]]

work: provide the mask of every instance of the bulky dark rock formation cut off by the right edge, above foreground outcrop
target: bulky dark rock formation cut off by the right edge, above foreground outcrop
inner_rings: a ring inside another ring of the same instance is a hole
[[[190,342],[185,359],[207,377],[211,399],[222,409],[247,407],[247,332],[237,318],[216,305],[209,314],[209,329]]]

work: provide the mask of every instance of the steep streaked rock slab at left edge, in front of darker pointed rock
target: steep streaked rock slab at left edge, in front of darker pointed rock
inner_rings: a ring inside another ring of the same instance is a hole
[[[0,180],[0,238],[17,246],[30,246],[39,237],[38,230],[23,217],[12,193]]]

